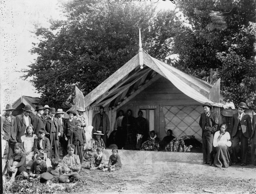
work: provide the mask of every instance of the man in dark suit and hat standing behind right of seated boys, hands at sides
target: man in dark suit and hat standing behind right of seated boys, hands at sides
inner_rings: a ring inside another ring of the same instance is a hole
[[[50,151],[48,157],[52,159],[52,147],[54,146],[54,157],[59,159],[59,140],[63,136],[63,127],[59,119],[55,118],[56,110],[55,108],[50,108],[50,116],[46,119],[46,135],[50,140]]]

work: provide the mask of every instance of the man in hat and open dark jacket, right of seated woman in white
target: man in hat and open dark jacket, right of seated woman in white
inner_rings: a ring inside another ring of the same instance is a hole
[[[239,143],[241,142],[241,166],[246,164],[248,138],[252,132],[251,117],[244,113],[248,109],[244,102],[238,104],[238,113],[233,114],[231,119],[231,137],[233,138],[233,165],[238,162]]]

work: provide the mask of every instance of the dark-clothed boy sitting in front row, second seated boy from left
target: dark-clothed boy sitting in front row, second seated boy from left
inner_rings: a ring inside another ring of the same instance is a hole
[[[47,166],[44,162],[44,154],[37,154],[36,161],[33,162],[29,171],[29,180],[33,181],[41,178],[41,174],[47,171]]]

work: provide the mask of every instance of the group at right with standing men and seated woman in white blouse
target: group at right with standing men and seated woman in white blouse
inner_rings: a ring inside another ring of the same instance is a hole
[[[251,117],[244,112],[248,109],[246,103],[238,104],[238,113],[234,114],[231,119],[230,134],[226,131],[226,124],[219,125],[216,114],[210,111],[212,106],[209,103],[204,103],[202,106],[205,113],[201,114],[199,125],[202,129],[203,164],[228,167],[231,164],[236,165],[240,159],[241,166],[245,166],[248,142],[252,141],[251,163],[256,165],[256,115],[253,116],[253,122],[251,122]],[[239,150],[240,157],[238,157]]]

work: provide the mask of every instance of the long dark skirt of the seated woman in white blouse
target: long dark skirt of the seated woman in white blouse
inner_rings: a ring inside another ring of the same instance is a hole
[[[231,164],[231,159],[227,150],[227,146],[217,146],[215,150],[216,155],[214,158],[214,165],[219,168],[228,168],[228,166]]]

